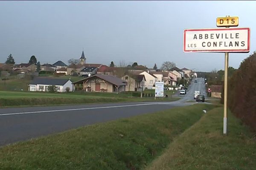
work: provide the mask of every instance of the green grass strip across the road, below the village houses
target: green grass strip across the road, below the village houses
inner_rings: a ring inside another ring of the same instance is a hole
[[[91,96],[90,96],[91,95]],[[128,97],[130,94],[112,93],[46,93],[0,91],[0,107],[33,105],[72,105],[105,102],[175,101],[179,98]]]

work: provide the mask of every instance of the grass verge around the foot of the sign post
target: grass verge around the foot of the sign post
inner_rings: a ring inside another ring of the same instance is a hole
[[[229,114],[228,136],[222,135],[223,108],[215,108],[172,142],[146,170],[253,170],[256,139]]]

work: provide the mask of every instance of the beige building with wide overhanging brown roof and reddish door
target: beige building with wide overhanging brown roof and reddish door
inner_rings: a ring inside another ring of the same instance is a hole
[[[95,74],[91,77],[73,82],[74,89],[80,86],[83,91],[119,93],[125,91],[127,85],[124,80],[113,75]]]

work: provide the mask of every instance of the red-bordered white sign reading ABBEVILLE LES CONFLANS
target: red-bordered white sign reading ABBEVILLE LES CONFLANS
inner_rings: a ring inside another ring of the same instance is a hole
[[[250,28],[185,29],[184,52],[249,52]]]

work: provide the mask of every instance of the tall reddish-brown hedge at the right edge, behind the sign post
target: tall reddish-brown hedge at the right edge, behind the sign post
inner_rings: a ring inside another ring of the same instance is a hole
[[[244,59],[229,79],[228,107],[256,131],[256,52]]]

